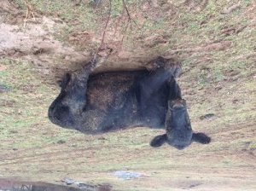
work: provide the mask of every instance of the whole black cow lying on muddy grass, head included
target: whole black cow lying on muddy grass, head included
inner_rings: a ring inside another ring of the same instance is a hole
[[[152,62],[153,71],[91,74],[96,61],[80,72],[67,73],[61,93],[49,107],[49,119],[61,127],[98,134],[131,127],[165,129],[152,147],[167,142],[182,149],[193,141],[209,143],[210,137],[193,133],[189,115],[176,82],[178,64],[162,57]]]

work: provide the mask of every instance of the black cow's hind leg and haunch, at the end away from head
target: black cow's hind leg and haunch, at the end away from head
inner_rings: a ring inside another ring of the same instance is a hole
[[[61,93],[49,107],[49,119],[66,128],[77,129],[86,106],[87,81],[98,62],[90,61],[79,72],[66,74],[61,82]]]

